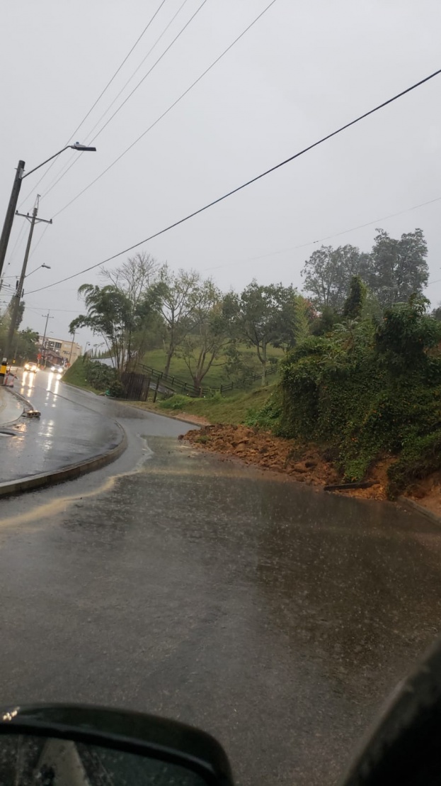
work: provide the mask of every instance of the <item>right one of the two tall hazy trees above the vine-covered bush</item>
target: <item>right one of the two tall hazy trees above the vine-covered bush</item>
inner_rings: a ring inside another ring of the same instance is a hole
[[[427,244],[421,230],[404,233],[399,240],[377,230],[374,246],[360,274],[382,307],[404,303],[421,294],[428,282]]]

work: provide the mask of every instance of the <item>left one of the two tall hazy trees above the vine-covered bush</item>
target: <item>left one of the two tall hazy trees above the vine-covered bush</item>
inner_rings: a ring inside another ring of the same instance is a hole
[[[352,245],[322,246],[313,252],[301,271],[304,290],[319,310],[341,309],[352,276],[359,273],[363,255]]]

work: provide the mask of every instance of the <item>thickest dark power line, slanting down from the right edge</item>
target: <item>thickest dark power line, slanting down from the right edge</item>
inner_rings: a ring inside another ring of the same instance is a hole
[[[169,232],[169,230],[173,230],[176,226],[180,226],[180,224],[183,224],[184,222],[188,221],[189,219],[193,219],[195,217],[195,215],[199,215],[200,213],[208,210],[209,208],[213,208],[213,205],[219,204],[219,202],[222,202],[223,200],[228,199],[229,196],[232,196],[233,194],[238,193],[239,191],[242,191],[242,189],[246,189],[248,187],[248,185],[251,185],[252,183],[257,182],[257,180],[261,180],[261,178],[266,177],[267,174],[271,174],[272,172],[275,172],[276,170],[280,169],[280,167],[284,167],[287,163],[290,163],[291,161],[295,160],[296,158],[299,158],[300,156],[303,156],[305,152],[308,152],[309,150],[314,149],[318,145],[322,145],[323,142],[325,142],[328,139],[331,139],[331,138],[337,136],[337,134],[341,134],[342,131],[346,130],[347,128],[350,128],[351,126],[354,126],[355,123],[359,123],[360,120],[363,120],[366,117],[369,117],[370,115],[373,115],[374,112],[378,112],[380,109],[385,108],[385,106],[388,106],[389,104],[392,104],[393,101],[397,101],[399,98],[401,98],[404,95],[410,93],[412,90],[416,90],[417,87],[420,87],[421,85],[424,85],[430,79],[434,79],[434,77],[438,76],[439,74],[441,74],[441,68],[439,68],[438,71],[435,71],[432,74],[426,76],[425,79],[420,79],[420,81],[415,83],[414,85],[411,85],[410,87],[406,87],[406,90],[402,90],[400,93],[397,93],[397,94],[395,94],[395,96],[392,96],[392,98],[388,98],[387,101],[383,101],[381,104],[378,104],[376,107],[374,107],[373,109],[370,109],[368,112],[363,112],[363,115],[359,115],[355,119],[351,120],[349,123],[345,123],[344,126],[341,126],[340,128],[337,128],[337,130],[331,131],[330,134],[326,134],[326,136],[324,136],[321,139],[313,142],[312,145],[308,145],[308,147],[305,147],[304,149],[300,150],[299,152],[294,153],[293,156],[290,156],[289,158],[286,158],[285,160],[280,161],[279,163],[276,163],[274,167],[270,167],[270,169],[267,169],[264,172],[261,172],[261,174],[257,174],[256,177],[251,178],[250,180],[247,180],[245,183],[242,183],[242,185],[238,185],[235,189],[231,189],[231,191],[228,191],[223,196],[218,196],[217,199],[213,200],[212,202],[209,202],[208,204],[204,205],[202,208],[199,208],[198,210],[195,210],[192,213],[189,213],[188,215],[184,216],[183,219],[179,219],[178,221],[173,222],[173,224],[169,224],[169,226],[164,227],[164,229],[159,230],[159,232],[155,232],[154,234],[149,235],[149,237],[144,237],[144,240],[139,241],[138,243],[134,243],[133,245],[129,246],[128,248],[124,248],[122,251],[117,252],[116,254],[113,254],[113,255],[109,256],[107,259],[103,259],[101,262],[98,262],[98,263],[96,263],[94,265],[90,265],[89,267],[86,267],[84,270],[79,270],[78,273],[74,273],[71,276],[67,276],[65,278],[61,278],[60,281],[54,281],[53,284],[48,284],[45,287],[40,287],[38,289],[34,289],[34,290],[32,290],[32,292],[41,292],[42,289],[49,289],[51,287],[57,286],[59,284],[62,284],[64,281],[70,281],[71,278],[75,278],[77,276],[81,276],[83,273],[89,273],[89,270],[94,270],[96,267],[100,267],[101,265],[104,265],[104,264],[106,264],[108,262],[111,262],[113,259],[117,259],[118,256],[122,256],[123,254],[127,254],[129,251],[133,251],[133,248],[138,248],[140,245],[143,245],[144,243],[148,243],[149,241],[152,241],[155,237],[159,237],[160,235],[163,235],[166,232]],[[32,294],[32,292],[29,292],[28,294]]]

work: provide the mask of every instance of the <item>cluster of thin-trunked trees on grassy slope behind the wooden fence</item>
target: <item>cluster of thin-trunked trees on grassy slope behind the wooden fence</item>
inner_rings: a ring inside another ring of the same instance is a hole
[[[308,301],[292,286],[258,285],[221,292],[195,270],[173,273],[147,254],[102,271],[104,286],[82,284],[86,307],[69,327],[99,336],[117,375],[144,362],[207,387],[256,373],[261,384],[308,322]]]

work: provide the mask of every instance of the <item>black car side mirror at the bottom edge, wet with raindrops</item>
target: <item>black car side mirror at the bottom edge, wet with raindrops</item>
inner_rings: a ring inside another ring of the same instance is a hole
[[[104,707],[0,711],[2,786],[233,786],[217,740],[182,723]]]

